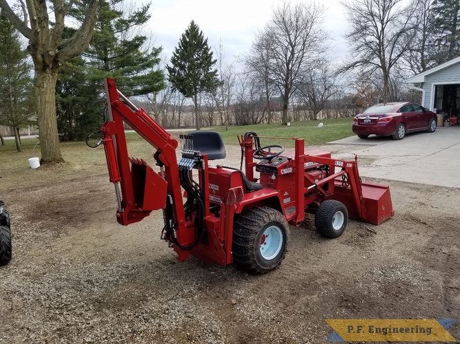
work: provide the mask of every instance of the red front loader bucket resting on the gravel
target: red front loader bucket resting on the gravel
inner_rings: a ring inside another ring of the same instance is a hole
[[[345,204],[348,217],[369,224],[381,224],[394,215],[391,202],[390,186],[380,184],[361,183],[363,202],[360,206],[359,196],[349,186],[343,186],[339,180],[335,181],[334,194],[328,198]]]

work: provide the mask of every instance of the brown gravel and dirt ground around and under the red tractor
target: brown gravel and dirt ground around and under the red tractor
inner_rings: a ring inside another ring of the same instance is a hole
[[[226,164],[239,166],[239,155],[228,147]],[[281,267],[262,276],[179,263],[159,239],[160,211],[119,226],[105,171],[10,190],[0,342],[323,343],[324,319],[458,319],[458,190],[378,182],[390,184],[392,219],[350,221],[328,240],[310,217],[291,228]],[[460,319],[449,332],[460,338]]]

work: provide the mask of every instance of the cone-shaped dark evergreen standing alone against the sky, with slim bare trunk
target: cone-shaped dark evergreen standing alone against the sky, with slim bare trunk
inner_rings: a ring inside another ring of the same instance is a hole
[[[172,87],[183,96],[192,98],[197,130],[200,128],[198,94],[213,92],[217,87],[217,69],[213,69],[216,62],[208,46],[208,39],[204,38],[198,25],[191,21],[172,53],[171,66],[166,68]]]

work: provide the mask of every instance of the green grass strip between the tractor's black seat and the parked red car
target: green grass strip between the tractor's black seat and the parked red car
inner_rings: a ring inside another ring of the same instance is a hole
[[[318,124],[323,123],[319,128]],[[238,144],[237,136],[243,136],[247,131],[254,131],[259,136],[270,136],[274,138],[303,138],[306,145],[324,144],[326,142],[340,140],[353,136],[353,118],[330,118],[325,120],[306,120],[302,122],[291,122],[290,127],[273,123],[270,125],[247,125],[244,127],[217,127],[212,130],[219,131],[225,144]],[[261,144],[282,144],[283,146],[294,146],[293,140],[261,140]]]

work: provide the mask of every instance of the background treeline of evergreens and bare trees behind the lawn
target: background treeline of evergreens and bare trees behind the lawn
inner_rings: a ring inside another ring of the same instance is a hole
[[[0,125],[17,136],[19,151],[19,129],[37,120],[37,61],[30,45],[26,50],[21,44],[4,2]],[[72,5],[68,19],[86,19],[88,6],[81,4]],[[146,30],[154,11],[150,4],[135,8],[123,0],[99,1],[88,48],[59,65],[59,140],[82,140],[100,127],[102,80],[107,77],[115,78],[121,92],[163,127],[286,123],[354,116],[385,101],[419,102],[419,92],[404,80],[460,56],[460,0],[342,4],[348,54],[338,61],[334,38],[323,27],[326,9],[318,3],[282,3],[254,36],[250,50],[230,57],[224,42],[208,45],[206,33],[193,21],[173,56],[164,56]],[[20,6],[13,9],[19,17],[27,13]],[[75,25],[64,28],[63,41],[77,30]],[[192,70],[192,65],[200,67]]]

